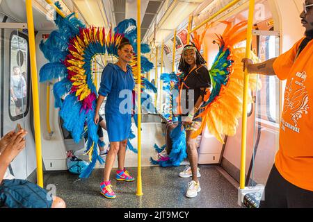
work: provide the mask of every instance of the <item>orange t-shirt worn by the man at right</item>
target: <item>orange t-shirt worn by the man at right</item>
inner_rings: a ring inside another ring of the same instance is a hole
[[[296,58],[303,39],[273,64],[278,78],[287,79],[275,166],[291,184],[313,191],[313,40]]]

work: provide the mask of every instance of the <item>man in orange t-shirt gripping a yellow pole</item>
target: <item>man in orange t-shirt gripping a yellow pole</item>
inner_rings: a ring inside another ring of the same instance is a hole
[[[248,73],[287,80],[280,147],[260,207],[313,207],[313,0],[300,18],[305,37],[289,51],[259,64],[243,59]]]

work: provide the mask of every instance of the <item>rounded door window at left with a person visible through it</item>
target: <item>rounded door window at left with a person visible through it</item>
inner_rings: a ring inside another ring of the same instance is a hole
[[[21,119],[29,110],[28,53],[26,35],[13,31],[10,36],[10,118]]]

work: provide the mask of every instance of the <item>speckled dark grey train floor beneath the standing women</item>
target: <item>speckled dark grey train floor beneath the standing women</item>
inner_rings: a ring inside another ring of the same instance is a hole
[[[131,175],[137,175],[136,168],[129,168]],[[202,190],[195,198],[186,198],[187,183],[191,178],[179,178],[180,167],[143,167],[143,196],[136,196],[137,182],[118,182],[115,170],[111,173],[111,183],[117,195],[114,200],[104,198],[99,193],[102,169],[95,169],[87,180],[67,171],[45,172],[46,186],[56,185],[56,195],[63,198],[70,208],[236,208],[237,190],[220,167],[200,166]]]

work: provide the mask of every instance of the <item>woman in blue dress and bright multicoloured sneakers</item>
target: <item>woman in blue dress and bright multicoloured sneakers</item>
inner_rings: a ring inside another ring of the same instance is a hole
[[[125,154],[127,139],[131,132],[131,98],[134,89],[134,77],[128,63],[133,56],[133,47],[123,37],[118,47],[118,62],[109,63],[104,68],[99,88],[99,97],[95,110],[95,124],[99,122],[99,109],[106,98],[105,119],[109,135],[110,149],[106,156],[104,181],[100,184],[101,194],[106,198],[115,198],[111,187],[110,173],[116,155],[118,155],[118,171],[116,180],[134,181],[125,170]]]

